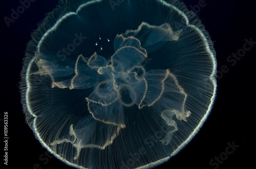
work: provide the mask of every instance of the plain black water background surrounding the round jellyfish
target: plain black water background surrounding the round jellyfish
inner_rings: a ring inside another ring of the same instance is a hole
[[[198,5],[201,0],[186,0],[185,5]],[[249,168],[255,155],[255,51],[256,44],[246,51],[235,65],[227,62],[232,53],[243,48],[245,39],[256,42],[254,1],[205,0],[198,15],[209,32],[217,52],[218,70],[227,66],[229,71],[218,78],[218,93],[214,108],[207,121],[193,140],[175,157],[156,168]],[[8,166],[4,168],[71,168],[55,157],[44,155],[32,130],[25,123],[20,104],[19,81],[26,44],[36,24],[51,12],[57,0],[35,1],[8,27],[4,16],[10,17],[11,9],[20,6],[18,1],[1,2],[1,115],[8,111]],[[1,140],[3,140],[3,121]],[[4,163],[4,145],[1,141],[1,165]],[[227,143],[239,145],[223,163],[212,166],[209,161],[226,151]],[[52,157],[52,158],[50,158]],[[255,166],[255,165],[254,165]],[[2,167],[1,167],[2,168]]]

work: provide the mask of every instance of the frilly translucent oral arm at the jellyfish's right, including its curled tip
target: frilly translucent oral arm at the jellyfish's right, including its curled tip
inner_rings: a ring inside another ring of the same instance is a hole
[[[139,108],[153,106],[155,109],[158,109],[158,107],[164,109],[161,112],[161,117],[170,129],[160,142],[163,145],[168,145],[174,133],[178,131],[177,123],[173,117],[175,116],[176,119],[186,122],[191,114],[189,110],[185,110],[187,94],[179,85],[176,76],[170,73],[169,70],[146,72],[145,79],[148,83],[148,90],[143,99],[143,104],[141,103]]]

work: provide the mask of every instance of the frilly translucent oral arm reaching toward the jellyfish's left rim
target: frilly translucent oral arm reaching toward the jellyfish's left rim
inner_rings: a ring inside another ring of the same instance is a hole
[[[89,59],[80,54],[77,57],[74,71],[70,67],[53,66],[51,61],[43,59],[47,58],[43,53],[36,52],[36,58],[39,71],[34,74],[49,75],[52,79],[52,88],[58,87],[61,89],[87,89],[93,87],[97,82],[97,70],[106,65],[106,60],[97,53],[94,53]],[[55,80],[57,77],[65,77],[73,73],[75,75],[71,79]]]

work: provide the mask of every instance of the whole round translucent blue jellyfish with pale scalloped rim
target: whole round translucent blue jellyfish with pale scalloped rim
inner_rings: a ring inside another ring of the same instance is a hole
[[[59,1],[27,45],[26,122],[67,165],[155,167],[207,119],[215,55],[200,19],[179,1]]]

